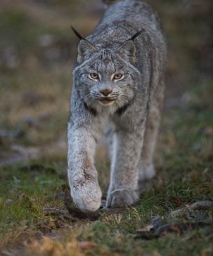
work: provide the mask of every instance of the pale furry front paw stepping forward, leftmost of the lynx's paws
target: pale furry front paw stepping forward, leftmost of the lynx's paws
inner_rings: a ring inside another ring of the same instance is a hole
[[[101,188],[96,177],[81,175],[71,181],[71,196],[82,212],[95,212],[101,206]]]

